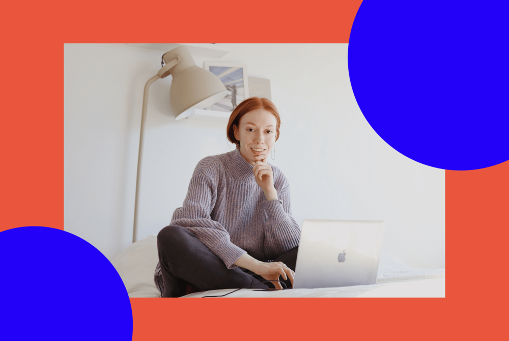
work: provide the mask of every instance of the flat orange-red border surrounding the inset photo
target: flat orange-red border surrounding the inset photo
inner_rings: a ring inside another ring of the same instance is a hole
[[[360,3],[4,5],[0,231],[64,228],[64,43],[347,43]],[[228,18],[233,30],[225,29]],[[137,298],[133,339],[502,338],[509,162],[445,176],[446,298]]]

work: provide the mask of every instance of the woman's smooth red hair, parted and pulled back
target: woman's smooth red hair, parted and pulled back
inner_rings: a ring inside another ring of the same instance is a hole
[[[228,140],[237,145],[237,148],[240,148],[240,141],[235,138],[235,134],[233,131],[233,125],[235,124],[237,128],[239,127],[240,118],[251,110],[256,109],[264,109],[270,113],[272,113],[276,117],[276,141],[279,138],[279,126],[281,125],[281,119],[279,118],[279,112],[277,111],[276,106],[267,98],[260,97],[250,97],[248,99],[243,100],[237,107],[233,110],[232,115],[230,115],[230,120],[228,121],[228,126],[226,128],[226,134],[228,136]]]

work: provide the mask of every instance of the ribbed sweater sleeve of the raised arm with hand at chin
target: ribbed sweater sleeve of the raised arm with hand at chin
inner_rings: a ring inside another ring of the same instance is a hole
[[[268,260],[274,260],[285,254],[299,245],[300,240],[300,226],[292,217],[290,183],[281,172],[278,173],[277,181],[274,183],[277,200],[263,202],[267,215],[263,248]]]

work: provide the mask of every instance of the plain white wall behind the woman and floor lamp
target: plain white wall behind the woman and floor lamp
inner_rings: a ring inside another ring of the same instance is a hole
[[[221,61],[268,78],[281,115],[276,159],[303,219],[385,220],[384,249],[410,266],[445,267],[445,173],[387,145],[348,78],[348,44],[217,44]],[[112,260],[132,239],[143,89],[163,52],[64,45],[64,226]],[[194,57],[203,67],[206,58]],[[182,206],[196,163],[233,150],[224,123],[175,121],[171,77],[150,88],[138,239]]]

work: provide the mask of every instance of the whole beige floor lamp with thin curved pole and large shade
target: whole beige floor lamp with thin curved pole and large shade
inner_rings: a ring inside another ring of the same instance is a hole
[[[138,238],[138,194],[140,178],[142,177],[143,140],[150,84],[159,78],[172,75],[169,102],[173,111],[177,114],[176,120],[182,120],[191,116],[194,113],[192,109],[204,109],[229,93],[221,80],[212,72],[196,66],[186,46],[179,46],[164,53],[162,59],[165,65],[154,77],[147,81],[143,91],[142,127],[139,133],[138,170],[136,173],[136,196],[134,199],[133,243]]]

